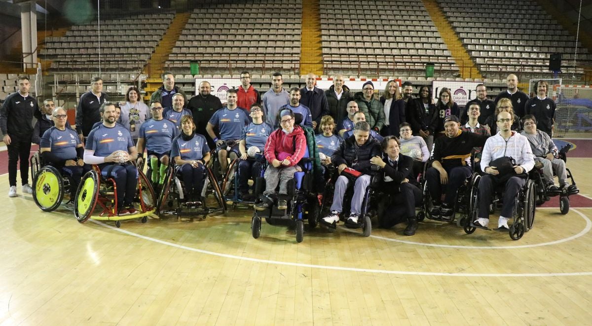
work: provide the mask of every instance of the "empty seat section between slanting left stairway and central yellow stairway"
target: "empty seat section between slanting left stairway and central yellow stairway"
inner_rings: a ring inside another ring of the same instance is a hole
[[[166,67],[185,73],[294,71],[300,62],[301,0],[202,4],[194,9]],[[230,68],[230,69],[229,69]]]

